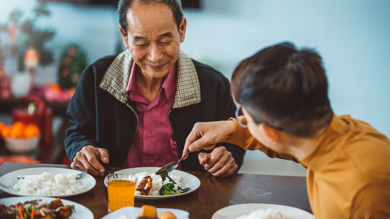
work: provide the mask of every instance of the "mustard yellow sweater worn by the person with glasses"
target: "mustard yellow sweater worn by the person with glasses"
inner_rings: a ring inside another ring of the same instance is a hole
[[[266,148],[233,120],[227,142],[307,167],[307,192],[316,219],[390,218],[390,140],[369,124],[333,115],[313,149],[297,160]]]

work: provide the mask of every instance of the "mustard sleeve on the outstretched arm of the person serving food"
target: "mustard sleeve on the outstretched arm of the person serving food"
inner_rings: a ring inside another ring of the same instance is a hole
[[[238,124],[237,119],[229,118],[229,120],[234,121],[234,131],[226,142],[235,144],[246,150],[261,150],[265,153],[265,155],[271,158],[289,159],[294,162],[299,162],[298,159],[296,159],[294,156],[285,153],[276,153],[275,151],[258,142],[249,133],[248,128],[241,127],[241,125]]]

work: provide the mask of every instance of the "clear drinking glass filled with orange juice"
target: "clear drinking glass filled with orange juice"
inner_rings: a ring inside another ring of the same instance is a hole
[[[108,212],[122,207],[134,206],[134,192],[137,177],[127,173],[113,173],[105,176],[108,192]]]

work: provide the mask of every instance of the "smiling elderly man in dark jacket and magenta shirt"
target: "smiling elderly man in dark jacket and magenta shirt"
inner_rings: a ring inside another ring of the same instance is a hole
[[[186,18],[179,0],[119,0],[126,49],[87,67],[66,115],[71,167],[103,175],[111,166],[162,166],[180,158],[196,121],[227,119],[229,81],[180,51]],[[179,169],[235,173],[244,150],[228,143],[190,153]]]

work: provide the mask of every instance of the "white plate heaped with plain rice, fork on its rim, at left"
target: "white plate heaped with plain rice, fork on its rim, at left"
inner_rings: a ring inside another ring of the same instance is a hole
[[[55,167],[25,168],[0,177],[1,190],[18,196],[67,197],[91,190],[96,180],[86,174],[75,180],[81,171]],[[17,175],[25,175],[17,179]]]

